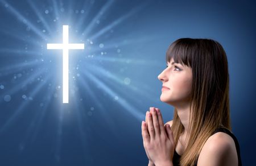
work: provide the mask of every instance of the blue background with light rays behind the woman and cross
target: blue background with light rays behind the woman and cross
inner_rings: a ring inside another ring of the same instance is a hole
[[[141,122],[150,106],[170,121],[157,76],[168,45],[211,38],[229,62],[232,131],[256,165],[253,1],[0,0],[0,165],[147,165]],[[69,103],[62,103],[62,26]],[[220,71],[221,72],[221,71]]]

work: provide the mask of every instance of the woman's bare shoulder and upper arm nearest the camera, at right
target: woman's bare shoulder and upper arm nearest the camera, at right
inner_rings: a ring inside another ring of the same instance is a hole
[[[200,152],[197,165],[238,165],[233,138],[225,132],[217,132],[210,136]]]

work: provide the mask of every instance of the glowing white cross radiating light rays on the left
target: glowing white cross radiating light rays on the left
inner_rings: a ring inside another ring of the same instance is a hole
[[[63,63],[62,63],[63,103],[68,103],[68,50],[84,49],[84,44],[68,43],[68,25],[64,25],[63,26],[63,43],[61,44],[48,43],[47,49],[63,49]]]

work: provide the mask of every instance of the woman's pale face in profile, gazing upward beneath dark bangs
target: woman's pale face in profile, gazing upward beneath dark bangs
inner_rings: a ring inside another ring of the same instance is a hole
[[[173,106],[186,105],[191,97],[192,68],[174,63],[172,58],[168,67],[159,74],[158,79],[163,82],[160,100]]]

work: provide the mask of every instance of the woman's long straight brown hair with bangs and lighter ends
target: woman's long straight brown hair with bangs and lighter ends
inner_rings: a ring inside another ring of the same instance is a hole
[[[193,81],[188,146],[180,159],[180,165],[194,165],[204,143],[219,126],[231,130],[229,113],[229,72],[226,53],[220,43],[212,39],[182,38],[170,45],[166,61],[174,58],[192,68]],[[184,126],[176,108],[172,122],[175,144]]]

